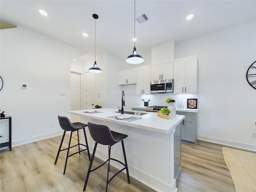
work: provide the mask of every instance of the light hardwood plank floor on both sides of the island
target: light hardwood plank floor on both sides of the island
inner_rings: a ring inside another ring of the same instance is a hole
[[[9,149],[1,150],[0,191],[82,192],[89,166],[87,152],[70,157],[66,174],[63,175],[66,152],[60,153],[58,162],[54,165],[61,137],[15,146],[11,152]],[[64,142],[67,146],[68,137]],[[76,142],[76,139],[72,142]],[[182,169],[177,180],[178,192],[235,192],[221,148],[220,145],[202,141],[198,141],[197,146],[182,144]],[[101,162],[95,158],[93,165]],[[111,172],[114,171],[115,168],[111,168]],[[92,172],[86,191],[105,191],[106,172],[107,165]],[[131,184],[128,184],[126,174],[122,172],[110,182],[108,191],[154,191],[131,176],[130,179]]]

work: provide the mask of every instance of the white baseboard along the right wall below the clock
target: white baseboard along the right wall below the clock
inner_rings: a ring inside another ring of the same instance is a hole
[[[216,144],[221,144],[221,145],[225,145],[225,146],[230,146],[230,147],[234,147],[234,148],[240,148],[243,150],[249,150],[249,151],[256,152],[256,145],[252,145],[252,144],[224,140],[224,139],[220,139],[220,138],[208,137],[208,136],[203,136],[203,135],[198,135],[197,138],[198,138],[198,140],[202,140],[202,141],[212,142],[212,143],[216,143]]]

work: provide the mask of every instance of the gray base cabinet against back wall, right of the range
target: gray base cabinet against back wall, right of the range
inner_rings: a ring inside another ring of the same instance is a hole
[[[178,112],[178,115],[185,115],[186,118],[181,122],[181,141],[196,145],[197,142],[197,113]]]

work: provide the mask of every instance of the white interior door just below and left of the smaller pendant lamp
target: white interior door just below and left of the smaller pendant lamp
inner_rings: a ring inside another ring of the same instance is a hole
[[[86,72],[86,96],[84,101],[84,109],[87,109],[88,106],[92,106],[95,103],[95,73]]]

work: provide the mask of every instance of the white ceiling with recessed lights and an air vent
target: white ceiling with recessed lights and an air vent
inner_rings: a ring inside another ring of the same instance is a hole
[[[42,16],[38,10],[48,12]],[[134,47],[134,0],[0,0],[3,21],[35,30],[87,53],[81,60],[110,52],[124,60]],[[256,0],[136,0],[138,54],[152,46],[175,40],[186,41],[256,20]],[[186,20],[194,14],[192,20]],[[82,36],[88,33],[88,37]]]

